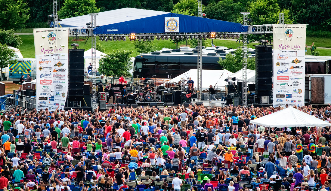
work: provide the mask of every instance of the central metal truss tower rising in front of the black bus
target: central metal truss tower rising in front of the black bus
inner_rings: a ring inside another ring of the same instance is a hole
[[[198,0],[198,17],[202,17],[202,0]],[[202,40],[198,38],[198,100],[201,99],[202,85]],[[193,87],[192,87],[193,88]]]

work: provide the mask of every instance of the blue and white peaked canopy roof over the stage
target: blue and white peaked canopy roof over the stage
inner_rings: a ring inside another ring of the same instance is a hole
[[[123,8],[99,13],[94,34],[165,33],[165,18],[179,18],[180,33],[245,32],[248,26],[162,11]],[[61,18],[60,18],[61,19]],[[89,15],[62,19],[61,27],[86,27]],[[178,32],[178,31],[177,31]]]

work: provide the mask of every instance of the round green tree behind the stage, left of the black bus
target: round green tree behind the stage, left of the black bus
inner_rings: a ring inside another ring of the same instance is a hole
[[[123,49],[108,53],[100,59],[98,71],[103,75],[112,76],[113,83],[116,76],[130,76],[129,70],[133,67],[132,53]]]

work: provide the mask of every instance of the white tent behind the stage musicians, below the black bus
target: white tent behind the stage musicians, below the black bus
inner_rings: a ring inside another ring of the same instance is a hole
[[[219,89],[224,89],[227,82],[224,80],[233,73],[228,70],[202,70],[202,84],[201,87],[204,89],[209,88],[210,85],[213,87],[218,87]],[[179,82],[182,78],[187,80],[188,78],[192,78],[194,81],[194,86],[198,86],[198,70],[191,69],[179,76],[171,79],[169,82],[176,83]],[[216,85],[215,85],[216,84]],[[165,85],[165,84],[163,84]]]

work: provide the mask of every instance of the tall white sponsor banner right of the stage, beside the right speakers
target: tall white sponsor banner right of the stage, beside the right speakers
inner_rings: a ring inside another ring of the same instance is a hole
[[[274,24],[273,106],[305,102],[305,24]]]

